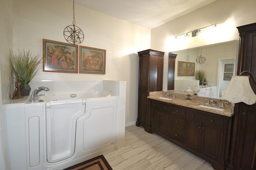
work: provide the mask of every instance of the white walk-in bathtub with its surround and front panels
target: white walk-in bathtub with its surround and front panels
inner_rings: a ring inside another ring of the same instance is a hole
[[[51,91],[55,83],[38,87]],[[21,99],[4,105],[8,169],[59,170],[124,147],[126,82],[81,84],[67,90],[77,96],[71,99],[66,91],[51,91],[40,92],[46,95],[38,96],[37,102]],[[84,87],[91,92],[81,92]]]

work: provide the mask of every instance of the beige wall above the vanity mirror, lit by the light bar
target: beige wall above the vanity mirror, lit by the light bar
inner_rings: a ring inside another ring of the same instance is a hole
[[[152,29],[151,49],[166,52],[164,56],[163,89],[167,89],[168,52],[238,40],[239,34],[236,27],[256,22],[255,6],[256,1],[254,0],[217,0]],[[214,23],[219,24],[212,35],[208,37],[192,37],[187,40],[174,38],[174,36]]]

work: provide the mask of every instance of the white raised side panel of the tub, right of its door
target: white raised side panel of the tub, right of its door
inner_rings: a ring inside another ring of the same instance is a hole
[[[81,150],[90,153],[112,147],[118,131],[117,109],[117,97],[86,99],[85,115],[78,119]]]

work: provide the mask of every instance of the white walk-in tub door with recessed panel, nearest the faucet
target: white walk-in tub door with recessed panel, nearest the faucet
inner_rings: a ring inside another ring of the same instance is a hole
[[[47,161],[58,162],[75,152],[76,121],[85,113],[85,100],[46,103]]]

